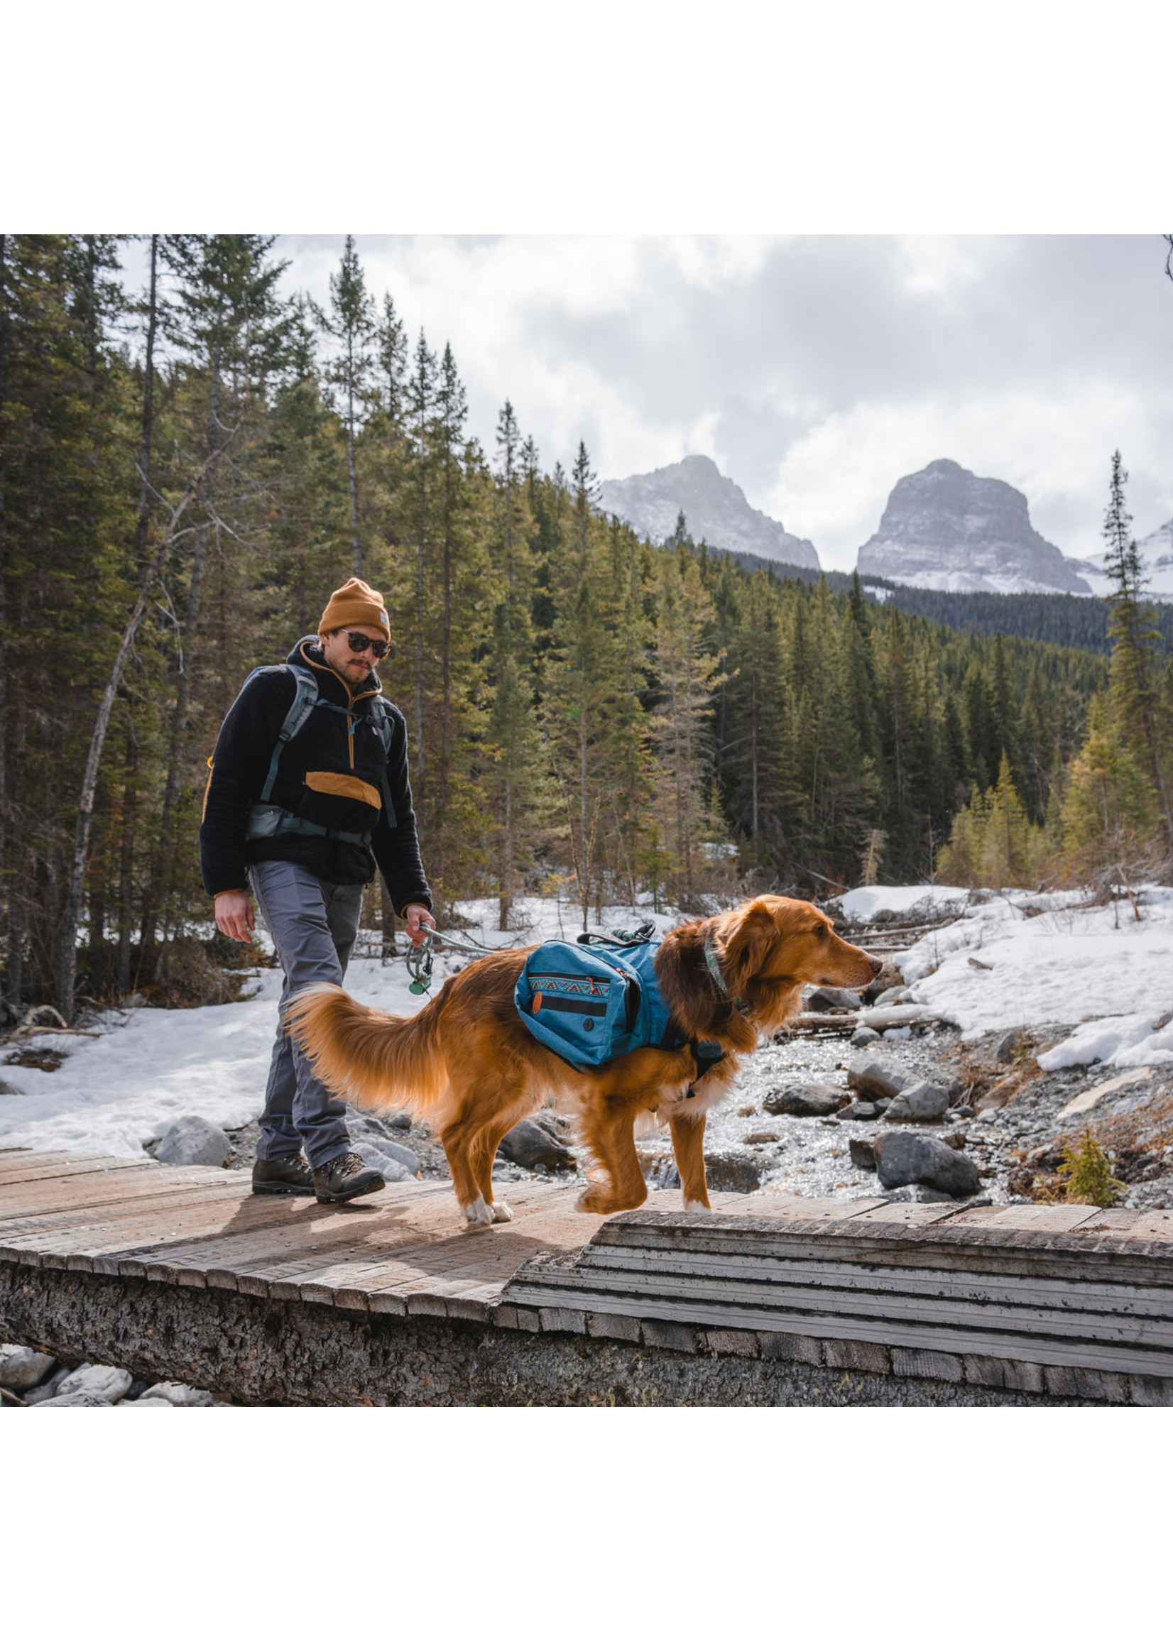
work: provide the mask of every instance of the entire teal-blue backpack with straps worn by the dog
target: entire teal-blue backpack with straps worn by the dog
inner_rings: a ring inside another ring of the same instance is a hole
[[[544,941],[526,959],[513,1000],[529,1033],[577,1071],[618,1061],[632,1049],[680,1049],[692,1041],[697,1077],[723,1059],[672,1025],[656,975],[659,941],[651,924],[606,936]]]

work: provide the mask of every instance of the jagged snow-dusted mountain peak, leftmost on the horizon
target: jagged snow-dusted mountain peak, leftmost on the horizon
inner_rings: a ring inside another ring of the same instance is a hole
[[[693,542],[703,537],[710,547],[729,553],[756,553],[785,565],[820,568],[813,545],[751,507],[741,486],[726,479],[710,456],[685,456],[654,473],[606,479],[600,486],[598,506],[618,514],[652,542],[672,535],[677,514],[683,512]]]

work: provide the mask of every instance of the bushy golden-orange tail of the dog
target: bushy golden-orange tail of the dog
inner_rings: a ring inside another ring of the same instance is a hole
[[[388,1015],[319,982],[292,995],[284,1025],[335,1094],[375,1112],[424,1112],[447,1087],[437,1002],[419,1015]]]

